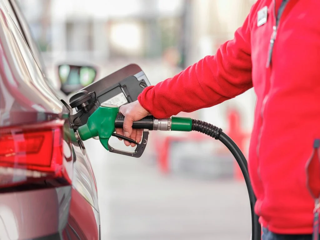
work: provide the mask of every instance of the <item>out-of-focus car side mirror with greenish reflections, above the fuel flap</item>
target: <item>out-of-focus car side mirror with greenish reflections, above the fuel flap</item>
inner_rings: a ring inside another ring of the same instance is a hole
[[[58,66],[61,91],[66,95],[77,92],[92,84],[97,76],[97,69],[93,66],[61,64]]]

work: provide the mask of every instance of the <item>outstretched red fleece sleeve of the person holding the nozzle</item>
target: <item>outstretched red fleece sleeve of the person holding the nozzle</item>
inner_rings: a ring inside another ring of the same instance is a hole
[[[166,118],[212,107],[252,88],[250,15],[214,56],[146,87],[138,96],[141,106],[156,118]]]

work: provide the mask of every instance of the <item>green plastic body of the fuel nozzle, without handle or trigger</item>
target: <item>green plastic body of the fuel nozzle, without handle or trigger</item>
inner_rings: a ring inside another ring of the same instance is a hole
[[[108,149],[108,141],[115,131],[115,120],[119,112],[116,105],[101,104],[92,113],[86,124],[78,128],[79,137],[82,140],[99,136],[99,140],[104,148]]]

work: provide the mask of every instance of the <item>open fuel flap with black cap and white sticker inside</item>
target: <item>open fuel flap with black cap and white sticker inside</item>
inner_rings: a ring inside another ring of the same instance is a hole
[[[150,82],[137,64],[124,68],[82,88],[70,98],[70,105],[61,100],[70,111],[70,127],[74,130],[87,123],[102,103],[118,107],[138,99]]]

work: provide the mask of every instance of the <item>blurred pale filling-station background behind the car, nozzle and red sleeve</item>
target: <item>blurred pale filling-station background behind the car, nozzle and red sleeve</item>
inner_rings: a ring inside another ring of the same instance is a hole
[[[61,76],[70,68],[58,70],[59,65],[84,66],[92,81],[129,63],[138,64],[151,84],[172,77],[232,39],[255,1],[19,2],[47,75],[54,87],[69,93],[91,82],[68,82]],[[180,115],[221,127],[246,156],[254,106],[249,90],[219,106]],[[149,139],[139,159],[109,153],[96,140],[85,142],[98,184],[102,239],[250,238],[245,183],[220,142],[174,132],[151,132]]]

